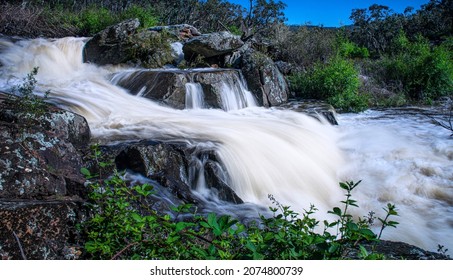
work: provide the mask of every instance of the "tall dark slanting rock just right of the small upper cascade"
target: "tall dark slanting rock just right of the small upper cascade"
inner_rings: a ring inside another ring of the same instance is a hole
[[[265,54],[249,49],[242,56],[241,70],[258,103],[276,106],[288,100],[289,88],[283,74]]]

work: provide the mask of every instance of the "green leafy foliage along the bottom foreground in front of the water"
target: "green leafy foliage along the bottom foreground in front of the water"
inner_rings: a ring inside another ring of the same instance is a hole
[[[100,158],[96,146],[94,158]],[[98,165],[98,171],[102,171],[110,164]],[[362,241],[378,242],[379,236],[369,229],[370,219],[355,221],[349,213],[350,207],[357,207],[351,192],[358,183],[340,184],[346,191],[344,207],[333,208],[329,213],[336,220],[324,221],[324,230],[317,230],[320,222],[313,218],[317,211],[313,205],[300,216],[269,196],[275,206],[270,207],[272,215],[262,215],[259,221],[248,225],[231,216],[195,214],[191,205],[158,213],[147,200],[154,195],[152,186],[129,186],[117,171],[108,178],[102,178],[107,173],[95,175],[87,168],[81,172],[92,188],[91,217],[81,225],[87,240],[87,258],[338,259],[349,250],[359,251],[366,259],[382,258],[359,245]],[[393,205],[388,206],[387,214],[379,219],[382,229],[396,224],[389,219],[397,215]],[[331,233],[334,229],[337,234]]]

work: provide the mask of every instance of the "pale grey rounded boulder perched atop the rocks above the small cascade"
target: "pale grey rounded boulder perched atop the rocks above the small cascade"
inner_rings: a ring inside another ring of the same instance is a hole
[[[205,58],[222,56],[240,48],[244,42],[239,36],[222,31],[194,37],[185,42],[183,50],[187,60],[197,55]]]

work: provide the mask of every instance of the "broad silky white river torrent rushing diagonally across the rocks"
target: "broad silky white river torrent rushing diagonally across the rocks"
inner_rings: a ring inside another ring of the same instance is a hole
[[[50,90],[51,102],[85,116],[96,140],[146,138],[215,149],[244,201],[268,205],[273,194],[298,211],[314,204],[320,218],[331,218],[324,213],[343,199],[338,181],[362,179],[354,193],[357,215],[383,217],[389,202],[401,215],[384,238],[453,250],[452,140],[429,123],[368,112],[340,116],[340,126],[332,127],[258,107],[174,110],[129,95],[106,79],[110,70],[83,64],[81,39],[0,44],[0,89],[39,66],[38,90]]]

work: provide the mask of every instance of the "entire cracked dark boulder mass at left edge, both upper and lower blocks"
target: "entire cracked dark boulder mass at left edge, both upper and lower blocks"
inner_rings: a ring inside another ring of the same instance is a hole
[[[0,258],[77,259],[90,130],[51,106],[24,110],[0,93]]]

